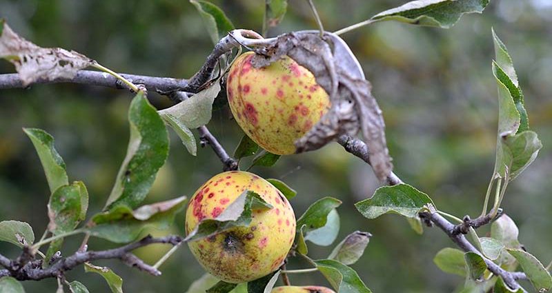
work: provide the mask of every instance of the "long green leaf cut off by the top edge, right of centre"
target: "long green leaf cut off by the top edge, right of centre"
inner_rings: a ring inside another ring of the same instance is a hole
[[[418,26],[451,28],[465,13],[481,13],[489,0],[419,0],[380,12],[372,21],[400,21]]]

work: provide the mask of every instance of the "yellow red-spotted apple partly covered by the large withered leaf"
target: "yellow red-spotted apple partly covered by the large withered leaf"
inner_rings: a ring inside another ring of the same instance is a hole
[[[328,112],[330,98],[313,74],[290,57],[254,68],[254,54],[242,54],[230,68],[230,110],[257,145],[273,154],[294,154],[293,143]]]

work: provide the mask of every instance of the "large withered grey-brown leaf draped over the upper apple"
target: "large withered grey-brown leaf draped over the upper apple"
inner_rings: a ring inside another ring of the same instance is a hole
[[[391,173],[382,111],[371,94],[355,55],[336,34],[301,31],[282,34],[274,39],[247,39],[239,30],[230,35],[257,53],[255,68],[264,67],[284,55],[313,72],[317,83],[328,92],[332,107],[304,137],[295,141],[297,152],[321,148],[337,137],[362,131],[370,149],[370,163],[379,179]]]

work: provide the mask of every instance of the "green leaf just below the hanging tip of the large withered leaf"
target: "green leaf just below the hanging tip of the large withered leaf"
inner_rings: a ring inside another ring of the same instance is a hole
[[[408,184],[378,188],[374,196],[355,203],[355,207],[368,219],[375,219],[388,212],[413,218],[422,210],[435,209],[427,194]]]

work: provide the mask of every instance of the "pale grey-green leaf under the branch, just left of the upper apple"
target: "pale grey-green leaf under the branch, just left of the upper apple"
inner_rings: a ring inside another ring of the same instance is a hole
[[[170,114],[190,129],[206,125],[211,119],[213,101],[215,101],[220,92],[219,81],[217,79],[208,88],[194,94],[190,99],[181,101],[170,108],[160,110],[159,114],[161,117]]]

